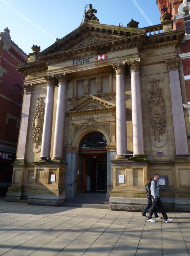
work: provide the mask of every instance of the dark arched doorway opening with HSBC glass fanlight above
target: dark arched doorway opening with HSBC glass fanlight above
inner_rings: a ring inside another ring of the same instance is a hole
[[[107,141],[100,132],[86,134],[79,144],[78,192],[107,192]]]

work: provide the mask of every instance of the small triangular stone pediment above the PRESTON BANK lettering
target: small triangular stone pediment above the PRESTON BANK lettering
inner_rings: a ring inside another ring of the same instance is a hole
[[[115,108],[115,104],[94,95],[87,95],[69,109],[68,113],[98,111],[102,109]]]

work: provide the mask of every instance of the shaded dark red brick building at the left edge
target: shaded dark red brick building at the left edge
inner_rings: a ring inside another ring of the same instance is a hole
[[[0,194],[11,183],[22,110],[23,81],[15,66],[27,62],[26,53],[10,37],[0,33]]]

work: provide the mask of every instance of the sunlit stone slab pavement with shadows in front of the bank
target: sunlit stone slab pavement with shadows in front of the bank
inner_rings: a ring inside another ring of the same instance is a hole
[[[190,255],[190,213],[168,217],[0,200],[0,255]]]

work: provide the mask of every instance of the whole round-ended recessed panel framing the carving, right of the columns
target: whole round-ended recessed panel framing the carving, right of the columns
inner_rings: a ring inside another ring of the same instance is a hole
[[[168,140],[163,82],[160,75],[151,75],[147,81],[150,139],[156,148],[162,148]]]

